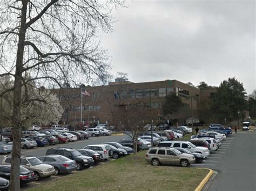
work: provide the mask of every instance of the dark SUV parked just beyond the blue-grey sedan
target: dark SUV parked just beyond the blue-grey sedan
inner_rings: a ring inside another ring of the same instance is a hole
[[[55,147],[50,148],[46,151],[46,155],[59,154],[64,157],[68,157],[69,159],[75,160],[77,162],[77,169],[80,170],[83,167],[90,167],[94,164],[92,157],[87,157],[82,155],[75,149],[72,148],[63,148],[63,147]]]

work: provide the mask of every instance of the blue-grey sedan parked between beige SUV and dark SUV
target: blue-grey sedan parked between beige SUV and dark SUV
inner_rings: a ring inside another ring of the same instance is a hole
[[[44,164],[52,165],[55,169],[54,175],[60,173],[70,173],[77,169],[75,160],[71,160],[63,155],[46,155],[38,158]]]

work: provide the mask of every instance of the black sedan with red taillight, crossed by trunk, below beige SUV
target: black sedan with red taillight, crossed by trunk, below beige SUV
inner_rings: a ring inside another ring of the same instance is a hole
[[[11,165],[0,165],[0,176],[10,180],[11,178]],[[19,182],[21,185],[32,182],[35,180],[35,173],[29,169],[19,166]],[[2,189],[1,189],[2,190]]]

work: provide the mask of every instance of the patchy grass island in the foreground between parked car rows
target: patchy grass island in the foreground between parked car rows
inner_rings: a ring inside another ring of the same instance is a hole
[[[194,190],[208,171],[151,166],[146,151],[73,173],[29,190]]]

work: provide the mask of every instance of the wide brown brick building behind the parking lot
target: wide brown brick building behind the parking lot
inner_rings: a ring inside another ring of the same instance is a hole
[[[158,111],[158,116],[155,117],[155,120],[160,121],[163,119],[161,105],[165,101],[165,96],[170,93],[180,96],[194,116],[197,114],[201,97],[200,90],[196,87],[177,80],[142,83],[133,83],[126,80],[116,80],[115,82],[110,82],[108,86],[85,87],[91,97],[82,96],[82,123],[84,125],[88,122],[107,122],[111,124],[115,105],[133,104],[138,100],[149,107],[152,105],[152,108]],[[60,98],[64,108],[60,124],[79,124],[81,121],[80,88],[63,88],[54,89],[53,91]],[[208,96],[208,94],[204,96]]]

